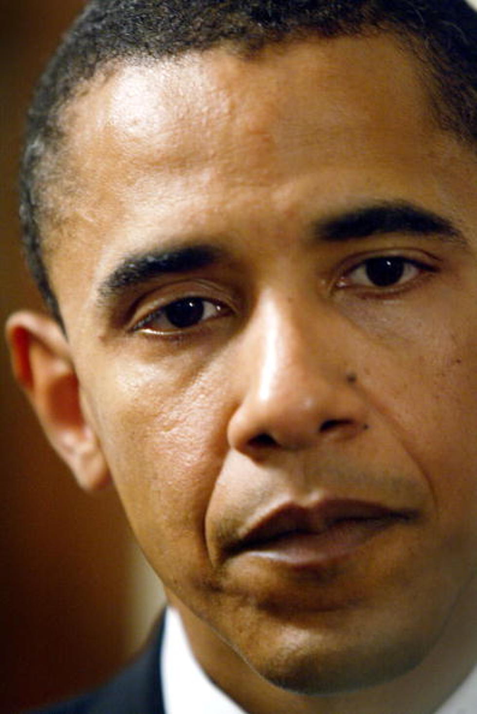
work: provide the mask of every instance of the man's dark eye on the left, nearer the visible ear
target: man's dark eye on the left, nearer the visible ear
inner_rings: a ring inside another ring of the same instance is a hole
[[[149,313],[136,323],[134,331],[163,334],[179,332],[222,316],[227,311],[228,308],[221,303],[205,298],[181,298]]]

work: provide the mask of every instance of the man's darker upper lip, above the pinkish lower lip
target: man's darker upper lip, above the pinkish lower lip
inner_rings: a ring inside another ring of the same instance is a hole
[[[253,550],[294,533],[323,533],[339,521],[408,520],[413,511],[394,511],[368,501],[323,499],[312,506],[288,503],[258,518],[231,543],[229,550]]]

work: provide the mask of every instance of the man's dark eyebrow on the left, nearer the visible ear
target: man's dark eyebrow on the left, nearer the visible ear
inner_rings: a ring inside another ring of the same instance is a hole
[[[161,275],[189,273],[218,263],[223,251],[215,246],[184,246],[126,256],[99,286],[100,305],[111,302],[130,288]]]

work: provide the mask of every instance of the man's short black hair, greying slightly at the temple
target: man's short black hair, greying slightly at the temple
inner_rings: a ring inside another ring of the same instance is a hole
[[[310,36],[388,32],[431,79],[441,126],[477,142],[477,13],[465,0],[92,0],[64,36],[29,110],[20,173],[26,259],[51,313],[61,313],[44,260],[41,207],[47,158],[64,139],[61,110],[111,62],[161,59],[229,44],[259,51]]]

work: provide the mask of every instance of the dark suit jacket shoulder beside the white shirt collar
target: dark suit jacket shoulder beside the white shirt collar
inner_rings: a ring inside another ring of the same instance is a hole
[[[163,622],[146,648],[106,685],[31,714],[164,714],[159,675]]]

